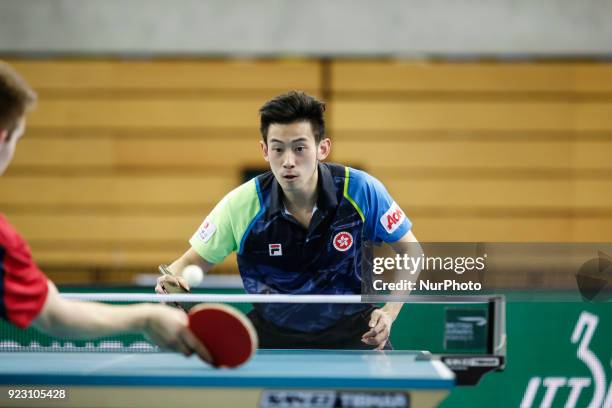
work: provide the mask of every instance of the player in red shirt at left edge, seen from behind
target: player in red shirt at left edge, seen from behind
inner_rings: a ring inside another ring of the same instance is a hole
[[[0,175],[25,130],[27,110],[36,101],[30,86],[0,61]],[[3,191],[2,196],[10,194]],[[111,306],[63,299],[38,269],[27,243],[0,214],[0,318],[18,327],[71,338],[141,332],[157,345],[211,361],[188,329],[187,315],[159,304]]]

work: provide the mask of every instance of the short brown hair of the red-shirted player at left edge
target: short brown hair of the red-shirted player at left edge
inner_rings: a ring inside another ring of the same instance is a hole
[[[0,130],[9,135],[19,119],[36,103],[30,85],[5,62],[0,61]]]

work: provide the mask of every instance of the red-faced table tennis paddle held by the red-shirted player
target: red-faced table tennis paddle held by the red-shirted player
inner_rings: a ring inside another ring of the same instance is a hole
[[[189,311],[189,329],[208,349],[215,367],[237,367],[257,350],[257,332],[238,309],[202,303]]]

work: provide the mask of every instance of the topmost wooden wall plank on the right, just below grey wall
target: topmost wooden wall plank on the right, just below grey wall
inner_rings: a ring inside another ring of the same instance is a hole
[[[612,92],[610,64],[336,61],[331,74],[339,93]]]

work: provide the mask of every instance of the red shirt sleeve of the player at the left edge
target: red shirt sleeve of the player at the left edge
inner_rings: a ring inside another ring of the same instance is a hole
[[[28,327],[47,299],[47,277],[25,240],[0,214],[0,317]]]

